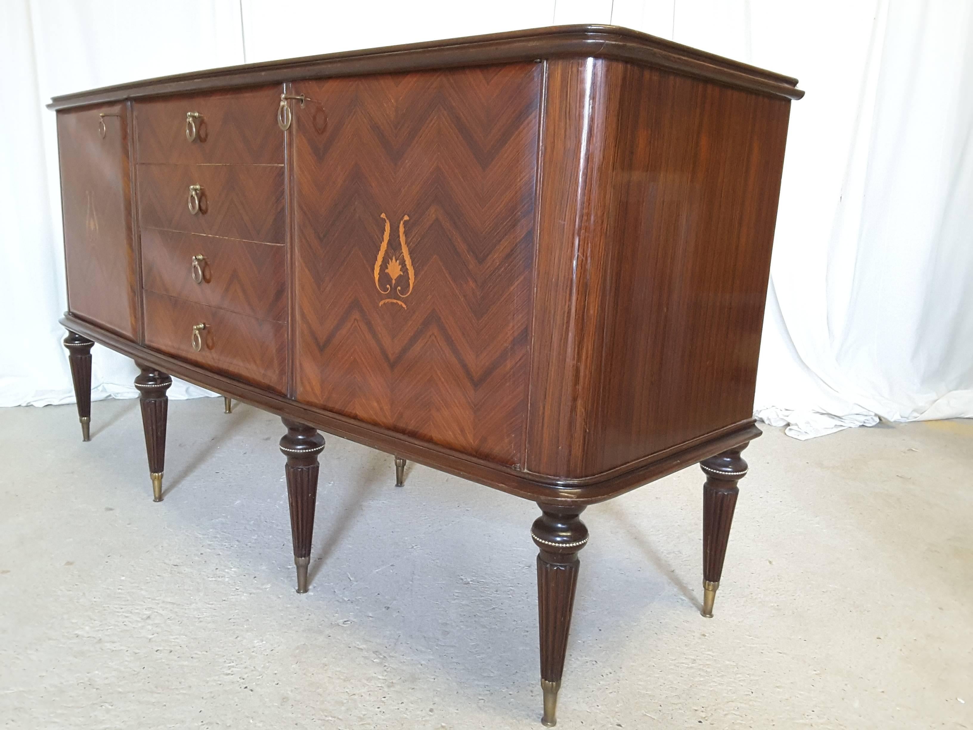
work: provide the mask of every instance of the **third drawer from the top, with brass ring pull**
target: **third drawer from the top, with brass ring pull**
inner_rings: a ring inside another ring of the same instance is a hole
[[[276,243],[145,229],[142,285],[258,319],[287,319],[284,247]]]

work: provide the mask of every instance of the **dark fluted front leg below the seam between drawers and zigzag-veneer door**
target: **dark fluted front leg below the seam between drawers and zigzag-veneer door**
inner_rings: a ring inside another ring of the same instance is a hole
[[[294,565],[298,571],[298,593],[307,593],[307,564],[314,533],[314,501],[317,498],[317,455],[324,451],[324,437],[297,420],[281,419],[287,433],[280,439],[280,451],[287,456],[287,501],[291,507],[291,536]]]

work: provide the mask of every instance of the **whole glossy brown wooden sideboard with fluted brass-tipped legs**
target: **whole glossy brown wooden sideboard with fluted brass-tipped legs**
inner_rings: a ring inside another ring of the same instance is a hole
[[[280,416],[299,592],[319,431],[537,502],[553,725],[587,505],[700,463],[711,615],[796,84],[565,26],[57,96],[83,437],[94,343],[156,501],[170,376]]]

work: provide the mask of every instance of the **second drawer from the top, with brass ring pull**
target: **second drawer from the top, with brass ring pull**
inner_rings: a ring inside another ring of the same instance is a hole
[[[198,186],[198,212],[191,188]],[[144,228],[284,242],[284,168],[253,164],[139,164]]]

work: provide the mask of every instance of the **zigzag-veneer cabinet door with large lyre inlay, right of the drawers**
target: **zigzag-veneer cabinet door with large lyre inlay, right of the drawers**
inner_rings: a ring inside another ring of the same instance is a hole
[[[294,85],[299,400],[522,462],[541,74]]]

